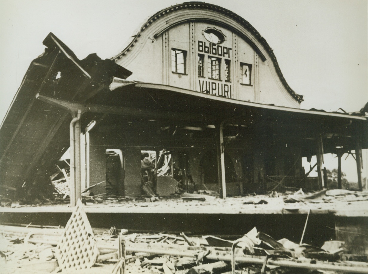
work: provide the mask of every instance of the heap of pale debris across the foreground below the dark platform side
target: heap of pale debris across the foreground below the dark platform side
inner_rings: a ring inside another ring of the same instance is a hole
[[[0,226],[2,273],[74,273],[56,260],[63,228]],[[75,273],[113,273],[125,246],[125,273],[368,273],[367,262],[342,261],[344,242],[319,248],[288,239],[276,241],[253,228],[239,239],[184,233],[134,233],[112,227],[93,229],[99,256],[92,268]]]

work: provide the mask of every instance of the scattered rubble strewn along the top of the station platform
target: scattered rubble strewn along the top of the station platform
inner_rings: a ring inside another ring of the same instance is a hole
[[[96,184],[98,185],[98,184]],[[181,194],[173,193],[169,196],[159,196],[152,190],[152,183],[150,181],[146,182],[143,185],[145,189],[146,195],[141,195],[140,197],[129,197],[129,196],[119,196],[119,195],[110,195],[108,193],[102,193],[99,195],[93,194],[93,188],[96,186],[93,185],[82,192],[82,202],[85,205],[93,205],[93,204],[138,204],[142,202],[169,202],[173,201],[176,203],[185,202],[185,201],[200,201],[200,202],[210,202],[216,198],[219,198],[219,194],[216,191],[210,190],[199,190],[194,191],[192,193],[182,192]],[[22,207],[27,204],[33,205],[51,205],[51,204],[68,204],[70,203],[69,196],[69,188],[67,180],[63,179],[56,183],[54,199],[46,199],[42,197],[38,197],[33,199],[32,202],[27,201],[17,201],[17,199],[11,199],[8,196],[0,195],[0,202],[2,207]],[[231,201],[230,203],[234,203],[234,199],[236,199],[239,204],[244,205],[262,205],[262,204],[330,204],[330,203],[342,203],[345,202],[347,204],[353,202],[362,202],[368,201],[368,191],[349,191],[346,189],[324,189],[318,192],[310,192],[304,193],[302,189],[291,192],[286,191],[283,193],[278,193],[276,191],[270,192],[268,195],[256,195],[248,194],[243,197],[233,197],[227,198],[227,201]],[[222,199],[216,199],[222,200]],[[223,203],[227,203],[226,200],[223,200]]]

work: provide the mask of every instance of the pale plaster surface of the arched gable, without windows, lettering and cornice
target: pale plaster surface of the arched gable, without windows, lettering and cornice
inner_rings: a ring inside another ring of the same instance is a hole
[[[147,26],[134,46],[125,51],[125,55],[117,60],[117,63],[133,72],[129,79],[142,82],[160,83],[179,88],[200,92],[199,81],[216,83],[219,88],[222,85],[231,85],[231,98],[248,102],[275,104],[276,106],[300,108],[300,104],[291,96],[276,72],[275,65],[268,55],[267,50],[259,41],[252,37],[248,31],[242,30],[236,22],[230,24],[231,18],[222,18],[224,24],[213,21],[213,14],[206,15],[210,22],[187,19],[191,15],[189,11],[180,11],[167,15]],[[202,14],[201,16],[205,15]],[[216,18],[220,21],[223,15]],[[170,25],[172,26],[170,27]],[[198,41],[210,42],[205,39],[203,31],[206,28],[216,28],[225,35],[226,39],[220,46],[231,48],[231,54],[227,57],[216,56],[212,53],[198,51]],[[239,30],[239,31],[237,31]],[[242,37],[248,37],[251,45]],[[171,49],[187,51],[186,74],[177,74],[171,71]],[[258,50],[257,50],[258,49]],[[204,78],[198,77],[198,53],[205,55]],[[262,61],[258,54],[266,57]],[[208,79],[208,56],[221,58],[221,79]],[[230,82],[224,81],[225,59],[231,60]],[[252,65],[251,85],[243,85],[240,64]],[[224,93],[208,92],[214,96],[222,96]]]

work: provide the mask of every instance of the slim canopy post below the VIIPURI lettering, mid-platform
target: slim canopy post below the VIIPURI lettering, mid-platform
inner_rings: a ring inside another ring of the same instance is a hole
[[[221,198],[226,198],[226,179],[225,179],[225,154],[224,154],[224,135],[223,135],[224,122],[218,127],[216,135],[216,147],[217,147],[217,170],[219,174],[219,193]]]

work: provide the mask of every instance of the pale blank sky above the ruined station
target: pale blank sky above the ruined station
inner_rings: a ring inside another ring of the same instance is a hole
[[[261,33],[287,83],[304,95],[302,108],[351,112],[368,102],[367,0],[206,2],[234,11]],[[90,53],[110,58],[146,18],[177,3],[182,2],[0,0],[0,120],[49,32],[79,59]],[[356,177],[354,161],[346,165],[343,171]]]

